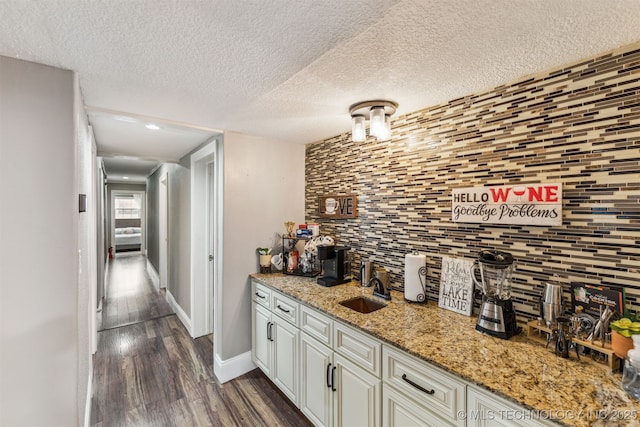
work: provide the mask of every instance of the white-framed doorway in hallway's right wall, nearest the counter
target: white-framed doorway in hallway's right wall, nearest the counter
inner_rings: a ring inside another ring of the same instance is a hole
[[[220,271],[220,259],[217,256],[216,224],[218,224],[218,168],[217,138],[211,140],[191,155],[191,336],[197,338],[213,333],[213,310],[217,306],[215,292]],[[209,183],[208,172],[213,165],[213,183]],[[209,191],[208,191],[209,190]],[[210,194],[213,190],[213,194]],[[209,206],[213,206],[213,215],[209,215]],[[213,224],[208,218],[213,217]],[[204,230],[204,233],[202,232]],[[212,238],[210,238],[212,236]],[[213,242],[213,248],[209,247]],[[213,269],[210,268],[209,255],[213,255]],[[213,270],[213,271],[212,271]],[[213,274],[213,277],[211,275]],[[212,305],[213,304],[213,305]]]

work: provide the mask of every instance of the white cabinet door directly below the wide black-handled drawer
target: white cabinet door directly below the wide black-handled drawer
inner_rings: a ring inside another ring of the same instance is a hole
[[[382,385],[382,425],[384,427],[440,427],[455,424],[438,418],[416,405],[388,384]]]

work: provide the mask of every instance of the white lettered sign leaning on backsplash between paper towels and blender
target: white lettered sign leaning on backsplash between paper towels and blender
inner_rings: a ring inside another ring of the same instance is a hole
[[[438,307],[467,316],[471,315],[473,308],[471,266],[473,261],[442,257]]]

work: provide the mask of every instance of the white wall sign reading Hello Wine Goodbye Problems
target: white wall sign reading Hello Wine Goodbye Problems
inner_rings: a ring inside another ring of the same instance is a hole
[[[562,184],[455,188],[453,222],[562,225]]]

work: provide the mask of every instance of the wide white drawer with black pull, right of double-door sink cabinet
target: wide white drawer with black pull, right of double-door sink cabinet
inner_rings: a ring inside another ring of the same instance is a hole
[[[382,379],[423,409],[464,426],[458,411],[465,409],[466,385],[426,362],[394,348],[382,348]]]

